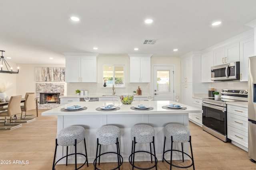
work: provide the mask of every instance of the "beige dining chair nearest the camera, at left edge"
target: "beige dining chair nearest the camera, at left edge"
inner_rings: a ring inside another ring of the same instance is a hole
[[[22,124],[15,124],[12,122],[12,116],[21,114],[20,102],[22,96],[11,96],[10,101],[8,103],[7,110],[0,111],[0,116],[5,117],[4,125],[0,125],[0,129],[14,129],[16,127],[20,127]],[[10,123],[7,123],[7,117],[10,117]]]

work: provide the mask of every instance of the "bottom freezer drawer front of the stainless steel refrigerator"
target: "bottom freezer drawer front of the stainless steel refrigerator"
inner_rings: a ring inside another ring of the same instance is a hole
[[[256,160],[256,124],[248,123],[248,156]]]

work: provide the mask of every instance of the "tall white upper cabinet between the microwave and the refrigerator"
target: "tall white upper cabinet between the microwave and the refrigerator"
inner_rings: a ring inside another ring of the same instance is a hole
[[[240,41],[240,81],[248,81],[248,57],[254,56],[254,36]]]

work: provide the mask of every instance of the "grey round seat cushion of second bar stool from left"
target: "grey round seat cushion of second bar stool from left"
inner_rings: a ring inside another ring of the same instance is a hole
[[[116,138],[120,140],[120,128],[114,125],[102,126],[96,131],[96,136],[100,145],[111,145],[116,143]]]

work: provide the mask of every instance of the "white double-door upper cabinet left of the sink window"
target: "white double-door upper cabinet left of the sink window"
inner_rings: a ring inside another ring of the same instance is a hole
[[[66,56],[66,82],[97,82],[97,55],[87,55]]]

